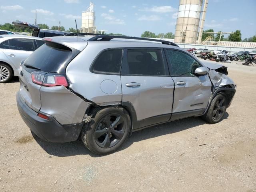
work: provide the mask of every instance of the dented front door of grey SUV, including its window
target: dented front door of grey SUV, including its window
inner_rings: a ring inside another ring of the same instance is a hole
[[[194,75],[202,65],[185,51],[166,49],[166,57],[175,84],[171,120],[202,114],[212,94],[209,76]]]

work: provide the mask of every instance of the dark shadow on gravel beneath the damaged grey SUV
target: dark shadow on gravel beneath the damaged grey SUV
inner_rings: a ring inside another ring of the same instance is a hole
[[[224,114],[224,119],[228,118],[228,113]],[[141,131],[132,133],[126,142],[121,146],[118,151],[124,150],[131,146],[134,142],[140,142],[142,140],[147,140],[150,138],[155,138],[162,135],[172,134],[180,132],[186,129],[193,128],[195,126],[207,124],[200,117],[190,117],[182,120],[176,120],[173,122],[168,122],[160,124],[157,126],[152,126]],[[74,142],[68,143],[50,143],[44,140],[41,140],[38,136],[33,134],[36,142],[49,154],[53,156],[66,157],[66,156],[75,156],[75,155],[90,155],[92,157],[100,157],[98,155],[92,154],[78,139]]]

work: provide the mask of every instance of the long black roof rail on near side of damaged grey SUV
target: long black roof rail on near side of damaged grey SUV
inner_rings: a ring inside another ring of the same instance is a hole
[[[94,36],[90,39],[88,39],[87,41],[110,41],[112,39],[134,39],[134,40],[143,40],[143,41],[154,41],[154,42],[161,42],[162,44],[165,45],[173,45],[173,46],[177,46],[175,43],[170,42],[170,41],[164,41],[164,40],[158,40],[158,39],[150,39],[150,38],[141,38],[141,37],[128,37],[128,36],[117,36],[117,35],[97,35]]]

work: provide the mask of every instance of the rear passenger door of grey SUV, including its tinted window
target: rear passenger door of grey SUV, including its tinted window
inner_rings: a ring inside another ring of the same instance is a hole
[[[122,102],[132,104],[139,127],[170,119],[174,82],[163,49],[125,49],[121,83]]]

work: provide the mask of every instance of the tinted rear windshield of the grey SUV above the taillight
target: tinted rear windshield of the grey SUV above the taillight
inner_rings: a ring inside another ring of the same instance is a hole
[[[54,42],[46,42],[32,53],[25,65],[39,68],[41,71],[64,73],[68,63],[80,51]]]

